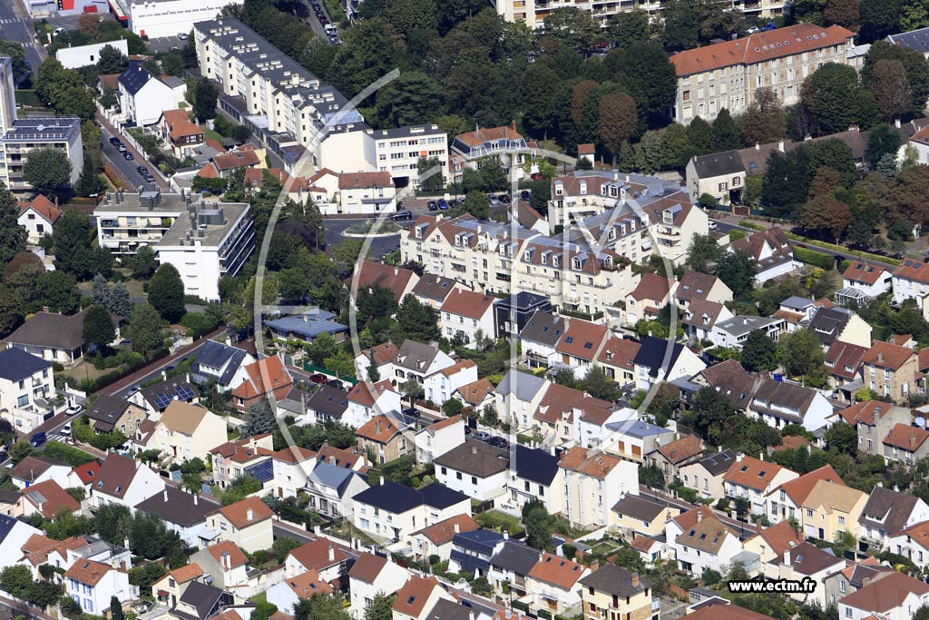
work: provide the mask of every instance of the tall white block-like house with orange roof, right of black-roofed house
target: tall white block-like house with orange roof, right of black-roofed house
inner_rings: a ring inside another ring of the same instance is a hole
[[[565,480],[564,514],[580,527],[608,525],[622,495],[638,495],[638,468],[618,456],[575,446],[558,461]]]

